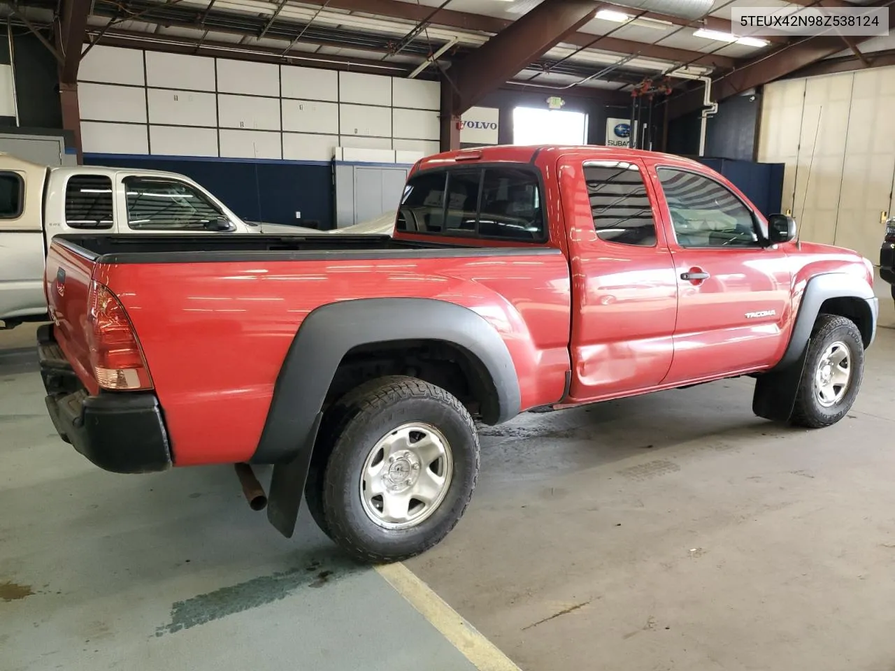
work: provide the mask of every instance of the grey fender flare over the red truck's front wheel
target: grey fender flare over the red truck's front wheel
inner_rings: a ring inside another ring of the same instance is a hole
[[[825,273],[814,276],[805,285],[805,293],[798,306],[789,344],[783,353],[783,358],[774,367],[775,370],[787,368],[799,360],[811,337],[811,330],[814,328],[823,302],[831,298],[857,298],[867,303],[872,323],[870,333],[862,334],[865,336],[865,349],[873,343],[879,312],[879,300],[876,298],[874,288],[860,277],[848,273]]]

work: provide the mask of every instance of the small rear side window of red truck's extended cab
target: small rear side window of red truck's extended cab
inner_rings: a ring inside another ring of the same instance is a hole
[[[584,181],[597,237],[643,247],[656,244],[652,205],[637,166],[618,161],[588,163]]]

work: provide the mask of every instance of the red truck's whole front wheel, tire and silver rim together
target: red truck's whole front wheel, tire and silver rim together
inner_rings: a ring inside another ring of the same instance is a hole
[[[841,420],[864,378],[864,341],[850,319],[820,315],[814,324],[799,382],[792,424],[820,429]]]

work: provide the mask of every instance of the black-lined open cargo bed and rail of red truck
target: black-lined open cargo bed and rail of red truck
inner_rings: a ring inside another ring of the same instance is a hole
[[[550,247],[481,247],[398,240],[388,235],[58,235],[56,244],[94,263],[197,263],[556,254]]]

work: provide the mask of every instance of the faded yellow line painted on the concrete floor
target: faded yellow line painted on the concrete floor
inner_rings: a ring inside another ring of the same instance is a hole
[[[429,620],[442,636],[479,671],[521,671],[491,641],[460,616],[403,564],[377,566],[376,570],[398,594]]]

